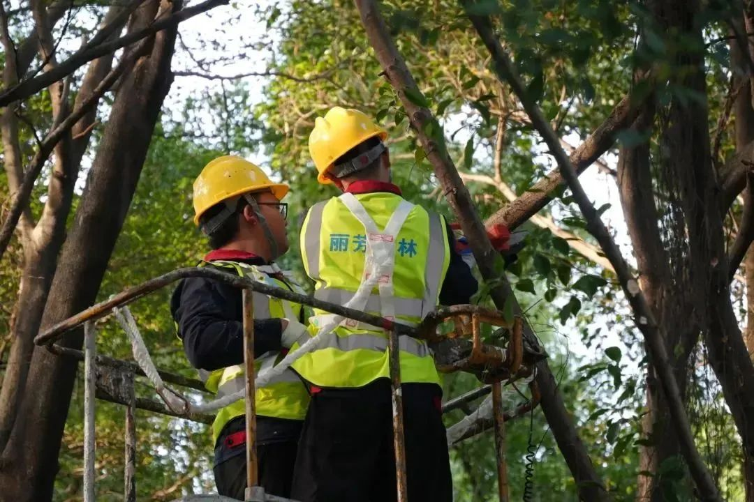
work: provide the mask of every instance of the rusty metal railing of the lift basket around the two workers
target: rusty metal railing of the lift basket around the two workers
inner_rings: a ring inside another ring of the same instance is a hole
[[[173,272],[153,278],[149,281],[130,288],[111,297],[89,309],[78,313],[53,327],[45,330],[35,337],[37,345],[47,345],[48,349],[64,357],[73,357],[79,361],[84,361],[84,502],[94,501],[94,438],[96,428],[94,424],[94,407],[95,398],[109,400],[126,406],[125,420],[125,487],[124,500],[131,502],[136,500],[136,480],[134,473],[136,470],[136,426],[134,421],[134,410],[136,408],[147,409],[152,412],[163,413],[189,420],[210,423],[213,419],[209,412],[222,406],[227,406],[227,399],[213,400],[210,403],[192,403],[183,397],[178,391],[170,388],[165,382],[172,385],[179,385],[185,388],[192,388],[204,391],[204,387],[196,379],[189,379],[184,376],[167,373],[156,369],[149,356],[149,351],[143,343],[143,339],[138,333],[136,322],[130,315],[127,305],[133,303],[139,298],[145,297],[161,288],[165,288],[182,278],[205,277],[211,278],[225,284],[241,288],[243,291],[244,304],[244,367],[246,370],[246,385],[244,391],[238,396],[233,396],[230,402],[245,398],[246,401],[246,424],[247,424],[247,491],[245,500],[247,502],[295,502],[271,494],[265,494],[262,487],[258,486],[257,458],[256,458],[256,409],[254,400],[255,381],[260,377],[264,378],[264,372],[256,375],[254,371],[254,300],[251,292],[256,291],[269,297],[280,298],[305,306],[311,306],[340,315],[344,318],[362,321],[375,327],[380,327],[388,333],[388,354],[390,361],[390,378],[392,389],[392,406],[393,406],[393,427],[394,427],[394,446],[396,461],[396,479],[397,494],[399,502],[408,500],[406,494],[406,452],[403,434],[403,406],[402,393],[400,392],[400,364],[398,339],[399,336],[413,336],[418,339],[428,340],[431,344],[440,344],[447,342],[448,339],[466,339],[470,338],[470,347],[461,347],[458,350],[458,357],[452,361],[444,361],[438,364],[438,368],[444,372],[468,371],[475,373],[482,382],[491,385],[483,386],[476,391],[464,394],[454,400],[449,401],[444,406],[443,411],[449,411],[464,406],[471,400],[482,397],[485,394],[492,393],[492,419],[481,416],[469,424],[467,430],[461,431],[456,440],[460,441],[467,437],[480,434],[487,428],[492,427],[495,430],[495,456],[498,465],[498,494],[501,502],[508,500],[507,488],[507,470],[505,463],[505,427],[504,422],[522,415],[524,412],[531,410],[538,404],[539,393],[536,384],[533,382],[532,373],[534,364],[542,357],[541,353],[534,351],[525,351],[522,343],[522,323],[520,319],[513,322],[504,320],[503,316],[496,311],[484,309],[479,306],[452,306],[444,309],[437,309],[431,312],[427,318],[418,327],[409,327],[404,324],[395,323],[389,319],[366,312],[348,309],[344,306],[333,303],[323,302],[314,297],[308,297],[302,294],[296,294],[292,291],[275,288],[268,284],[253,281],[249,278],[238,275],[230,275],[227,272],[221,272],[209,268],[187,268],[178,269]],[[115,313],[121,326],[126,330],[134,352],[136,363],[130,361],[121,361],[97,355],[96,348],[96,330],[94,322],[100,318]],[[446,321],[453,321],[455,331],[449,336],[440,336],[437,334],[437,327]],[[503,327],[507,333],[507,346],[486,344],[482,340],[480,325],[482,323],[492,324],[493,326]],[[57,345],[58,339],[69,330],[74,330],[84,324],[84,351],[78,351],[72,348]],[[319,333],[318,335],[319,336]],[[298,357],[305,351],[316,348],[317,336],[310,342],[305,343],[291,357],[290,360]],[[99,371],[98,371],[99,370]],[[159,403],[155,400],[143,399],[136,397],[133,381],[136,375],[146,376],[155,391],[163,400]],[[529,377],[529,387],[532,392],[532,398],[521,406],[518,406],[512,412],[504,412],[502,404],[502,382],[507,380],[513,382],[516,379]],[[492,423],[490,423],[492,422]],[[181,499],[183,502],[199,502],[208,500],[231,500],[227,497],[217,495],[192,495]]]

